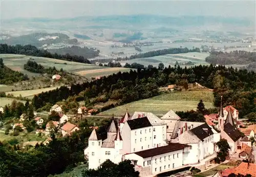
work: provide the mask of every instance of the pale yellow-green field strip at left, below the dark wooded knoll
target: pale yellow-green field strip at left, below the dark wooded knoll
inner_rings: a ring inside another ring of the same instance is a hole
[[[41,92],[54,90],[56,88],[57,87],[48,87],[48,88],[34,89],[34,90],[12,91],[12,92],[6,92],[6,94],[13,94],[14,97],[17,97],[19,95],[22,95],[22,97],[31,97],[31,96],[34,96],[34,95],[39,94]]]

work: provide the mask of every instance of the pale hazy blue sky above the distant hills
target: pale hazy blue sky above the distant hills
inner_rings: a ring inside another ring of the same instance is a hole
[[[46,1],[0,0],[1,18],[65,18],[101,15],[217,15],[255,19],[255,1]]]

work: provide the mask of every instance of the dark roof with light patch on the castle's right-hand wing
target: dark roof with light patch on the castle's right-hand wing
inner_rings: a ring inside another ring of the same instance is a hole
[[[199,125],[190,131],[193,132],[201,141],[203,141],[204,138],[214,134],[207,123]]]

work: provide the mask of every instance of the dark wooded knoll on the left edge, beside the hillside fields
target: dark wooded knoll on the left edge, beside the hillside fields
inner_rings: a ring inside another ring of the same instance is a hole
[[[5,66],[3,59],[0,58],[0,84],[12,84],[18,81],[29,80],[26,74],[14,71]]]

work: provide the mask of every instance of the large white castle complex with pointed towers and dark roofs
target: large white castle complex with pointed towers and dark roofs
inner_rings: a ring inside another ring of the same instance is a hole
[[[187,122],[180,123],[179,119],[173,111],[162,118],[148,112],[135,112],[130,116],[126,111],[118,127],[112,120],[105,140],[93,130],[84,149],[89,168],[97,169],[107,159],[114,163],[129,159],[140,176],[146,176],[198,164],[206,157],[215,156],[220,133],[206,123],[194,122],[195,128],[190,126],[190,130],[184,129],[180,134],[178,127],[187,126]],[[170,142],[172,134],[179,136]]]

